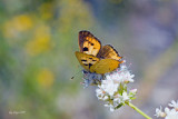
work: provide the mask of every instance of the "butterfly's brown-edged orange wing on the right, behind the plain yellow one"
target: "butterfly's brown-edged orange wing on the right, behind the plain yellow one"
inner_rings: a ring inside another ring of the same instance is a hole
[[[97,57],[102,59],[115,59],[115,60],[120,60],[122,58],[110,44],[103,46],[99,51],[99,53],[97,54]]]

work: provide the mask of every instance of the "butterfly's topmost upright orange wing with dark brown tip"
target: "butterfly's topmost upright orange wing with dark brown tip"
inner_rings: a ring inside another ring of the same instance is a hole
[[[79,48],[80,52],[97,56],[101,49],[100,41],[89,31],[79,32]]]

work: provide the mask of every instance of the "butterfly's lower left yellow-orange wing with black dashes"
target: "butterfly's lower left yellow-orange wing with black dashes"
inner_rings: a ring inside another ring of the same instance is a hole
[[[91,66],[99,61],[99,58],[79,51],[76,51],[76,57],[79,60],[80,65],[88,71],[90,71]]]

